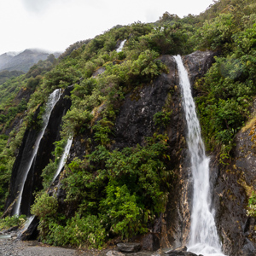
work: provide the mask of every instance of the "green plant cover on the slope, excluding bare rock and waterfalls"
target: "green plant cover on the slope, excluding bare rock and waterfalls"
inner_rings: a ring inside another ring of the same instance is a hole
[[[195,80],[194,93],[207,149],[217,154],[221,165],[229,165],[234,138],[250,119],[256,92],[253,2],[223,0],[198,16],[180,19],[166,13],[154,24],[115,26],[96,38],[73,44],[58,61],[49,57],[26,75],[2,84],[6,91],[0,105],[5,113],[1,115],[2,202],[8,195],[12,165],[26,128],[40,129],[49,94],[72,85],[72,107],[62,120],[53,160],[42,173],[44,189],[36,191],[32,206],[32,214],[40,218],[42,240],[102,247],[117,236],[126,239],[147,233],[165,212],[168,193],[177,182],[178,167],[170,157],[172,142],[167,136],[174,110],[166,108],[175,94],[171,91],[172,96],[154,113],[154,133],[137,143],[122,146],[116,141],[120,109],[127,97],[138,102],[142,88],[153,87],[160,74],[167,75],[163,55],[215,51],[215,63],[204,77]],[[123,40],[125,47],[117,52]],[[20,91],[26,90],[30,91],[29,101],[18,101]],[[11,125],[19,114],[23,115],[22,124]],[[5,132],[9,126],[11,133]],[[73,137],[75,143],[60,177],[65,196],[58,201],[54,193],[46,191],[67,137]],[[181,149],[176,148],[177,152]],[[255,216],[255,194],[251,195],[248,214]]]

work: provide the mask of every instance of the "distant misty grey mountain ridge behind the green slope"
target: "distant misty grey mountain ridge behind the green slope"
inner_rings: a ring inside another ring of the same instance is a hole
[[[22,71],[28,72],[32,65],[38,61],[44,61],[51,53],[42,49],[25,49],[20,53],[8,52],[0,55],[0,71]],[[61,55],[61,52],[53,53],[55,58]]]

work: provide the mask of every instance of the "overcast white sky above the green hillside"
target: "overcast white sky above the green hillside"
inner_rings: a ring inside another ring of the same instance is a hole
[[[154,22],[166,11],[199,15],[212,0],[0,0],[0,55],[65,50],[116,25]]]

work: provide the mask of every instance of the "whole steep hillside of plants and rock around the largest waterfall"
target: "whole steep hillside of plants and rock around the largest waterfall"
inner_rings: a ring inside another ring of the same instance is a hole
[[[58,246],[187,245],[195,188],[172,57],[183,55],[222,252],[254,255],[255,24],[253,0],[220,0],[183,19],[166,12],[77,42],[0,85],[3,217],[37,216],[22,239]]]

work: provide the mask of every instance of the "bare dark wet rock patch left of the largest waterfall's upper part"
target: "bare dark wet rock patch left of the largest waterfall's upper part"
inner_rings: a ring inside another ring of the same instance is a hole
[[[169,73],[161,74],[152,84],[143,84],[125,97],[116,119],[113,148],[133,147],[145,143],[145,137],[153,136],[154,114],[166,105],[170,90],[175,90],[177,84],[172,56],[165,55],[160,60],[168,66]]]

